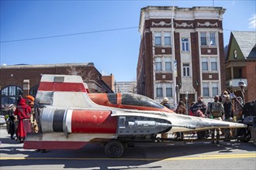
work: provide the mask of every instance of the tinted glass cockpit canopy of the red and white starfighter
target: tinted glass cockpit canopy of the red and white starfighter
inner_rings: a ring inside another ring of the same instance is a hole
[[[108,93],[110,103],[116,104],[116,93]],[[164,108],[161,104],[150,99],[149,97],[142,96],[136,93],[122,93],[122,104],[131,106],[143,106],[143,107],[154,107]]]

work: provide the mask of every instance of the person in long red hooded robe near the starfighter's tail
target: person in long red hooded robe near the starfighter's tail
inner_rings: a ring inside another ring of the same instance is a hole
[[[19,101],[19,104],[14,112],[14,115],[16,115],[19,120],[16,133],[20,143],[24,142],[27,133],[32,132],[30,124],[30,114],[31,108],[26,104],[26,100],[22,98]]]

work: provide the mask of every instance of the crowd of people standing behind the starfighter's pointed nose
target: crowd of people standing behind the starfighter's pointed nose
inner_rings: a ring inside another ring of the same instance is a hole
[[[190,116],[195,117],[205,117],[212,118],[219,121],[237,121],[237,119],[242,117],[243,112],[243,100],[241,97],[234,97],[234,100],[230,98],[230,94],[225,90],[221,95],[216,95],[213,98],[213,102],[210,102],[206,105],[203,101],[202,96],[199,96],[197,101],[193,101],[190,106],[185,106],[185,103],[180,100],[178,102],[178,107],[175,109],[177,114],[189,114]],[[165,107],[171,109],[170,104],[168,104],[168,98],[164,97],[162,104]],[[210,131],[197,131],[198,139],[206,139],[209,136],[213,139],[212,144],[215,143],[215,134],[216,134],[216,144],[220,144],[220,135],[223,135],[224,138],[234,137],[233,131],[230,128],[225,129],[212,129]],[[183,139],[184,134],[182,132],[177,132],[175,138]]]

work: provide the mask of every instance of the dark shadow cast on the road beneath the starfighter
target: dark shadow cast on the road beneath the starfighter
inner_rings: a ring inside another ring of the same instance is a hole
[[[12,155],[9,158],[1,159],[1,166],[16,165],[63,165],[63,168],[89,168],[89,169],[117,169],[115,167],[126,167],[118,169],[136,169],[140,166],[157,162],[166,158],[189,157],[197,154],[207,154],[213,151],[219,153],[232,153],[235,149],[255,151],[256,147],[250,143],[237,141],[221,141],[220,145],[211,145],[209,142],[177,142],[175,144],[152,144],[136,145],[133,148],[125,148],[123,157],[120,159],[108,158],[104,153],[103,145],[86,145],[79,150],[53,150],[47,153],[25,150],[18,141],[13,141],[6,136],[0,138],[1,155]],[[248,147],[248,145],[250,145]],[[47,159],[47,161],[45,160]],[[114,168],[111,168],[114,167]],[[161,167],[144,167],[161,168]]]

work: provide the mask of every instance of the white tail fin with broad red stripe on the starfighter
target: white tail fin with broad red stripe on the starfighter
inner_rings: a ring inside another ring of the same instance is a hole
[[[36,93],[36,104],[56,107],[91,107],[88,87],[75,75],[43,74]]]

